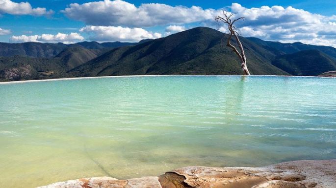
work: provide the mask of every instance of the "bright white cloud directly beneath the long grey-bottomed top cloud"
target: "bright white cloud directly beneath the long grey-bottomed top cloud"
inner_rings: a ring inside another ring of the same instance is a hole
[[[90,35],[89,39],[98,42],[138,42],[143,39],[157,39],[160,33],[153,33],[142,28],[114,26],[85,26],[79,30]]]

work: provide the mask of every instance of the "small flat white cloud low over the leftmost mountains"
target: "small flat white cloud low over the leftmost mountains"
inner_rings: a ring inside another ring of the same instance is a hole
[[[9,38],[9,42],[13,43],[20,43],[20,42],[49,42],[49,43],[57,43],[57,42],[63,42],[63,43],[75,43],[78,41],[84,40],[84,37],[82,37],[78,33],[70,33],[70,34],[64,34],[64,33],[58,33],[57,35],[51,35],[51,34],[42,34],[42,35],[21,35],[21,36],[12,36]]]

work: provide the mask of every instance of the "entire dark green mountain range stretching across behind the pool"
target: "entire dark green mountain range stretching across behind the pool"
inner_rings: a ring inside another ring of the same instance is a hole
[[[0,81],[65,77],[241,74],[228,35],[197,27],[164,38],[125,42],[0,43]],[[336,48],[240,37],[252,74],[317,76],[336,70]],[[233,44],[236,43],[233,41]],[[118,47],[119,46],[119,47]],[[2,57],[1,57],[2,56]]]

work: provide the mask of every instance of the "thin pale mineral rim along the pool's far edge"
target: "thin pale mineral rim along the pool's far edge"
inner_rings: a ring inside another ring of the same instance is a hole
[[[24,81],[8,81],[0,82],[1,84],[20,84],[32,82],[52,82],[62,80],[82,80],[82,79],[99,79],[99,78],[128,78],[128,77],[181,77],[181,76],[247,76],[247,77],[294,77],[294,78],[321,78],[335,79],[336,77],[320,77],[320,76],[286,76],[286,75],[239,75],[239,74],[167,74],[167,75],[124,75],[124,76],[98,76],[98,77],[75,77],[75,78],[53,78],[42,80],[24,80]]]

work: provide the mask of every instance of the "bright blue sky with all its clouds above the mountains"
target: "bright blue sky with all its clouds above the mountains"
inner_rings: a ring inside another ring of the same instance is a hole
[[[336,47],[336,0],[0,0],[0,42],[138,42],[198,26],[244,37]]]

